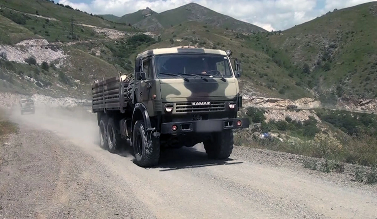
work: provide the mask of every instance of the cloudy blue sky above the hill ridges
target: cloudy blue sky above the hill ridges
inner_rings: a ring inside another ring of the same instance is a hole
[[[55,2],[57,2],[55,0]],[[163,12],[191,2],[221,14],[260,26],[268,31],[285,30],[334,9],[370,0],[59,0],[64,5],[93,14],[124,14],[149,7]]]

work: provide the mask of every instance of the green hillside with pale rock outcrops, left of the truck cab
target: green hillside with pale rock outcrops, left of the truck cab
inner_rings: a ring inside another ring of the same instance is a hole
[[[1,92],[89,97],[93,81],[130,69],[128,56],[93,45],[113,48],[137,29],[44,0],[0,4]]]

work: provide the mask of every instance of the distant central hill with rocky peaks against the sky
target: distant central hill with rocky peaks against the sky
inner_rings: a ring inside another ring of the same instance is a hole
[[[132,14],[123,15],[116,20],[119,23],[132,24],[134,27],[157,31],[176,26],[185,21],[198,21],[215,27],[230,29],[236,32],[265,32],[261,27],[236,20],[220,14],[196,3],[157,13],[150,8],[139,10]]]

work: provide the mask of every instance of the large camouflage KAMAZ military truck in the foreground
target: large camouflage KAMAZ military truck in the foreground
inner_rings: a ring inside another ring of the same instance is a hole
[[[94,83],[101,147],[115,152],[128,139],[141,167],[157,165],[162,147],[198,143],[209,158],[228,158],[233,129],[250,125],[237,117],[241,71],[230,56],[230,50],[190,46],[152,49],[136,56],[131,76]]]

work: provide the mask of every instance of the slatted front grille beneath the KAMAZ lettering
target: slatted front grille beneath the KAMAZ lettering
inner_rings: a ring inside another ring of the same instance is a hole
[[[201,113],[201,112],[219,112],[225,110],[224,101],[213,101],[210,105],[192,105],[192,102],[176,103],[176,113]]]

